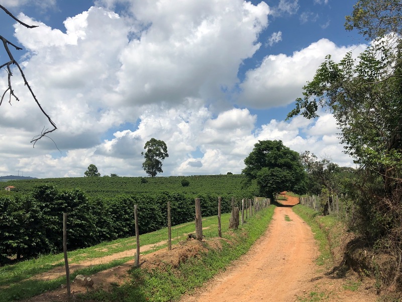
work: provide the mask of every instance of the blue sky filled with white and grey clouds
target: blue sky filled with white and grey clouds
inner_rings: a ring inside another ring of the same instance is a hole
[[[366,48],[345,31],[350,0],[0,0],[12,49],[51,127],[17,69],[0,107],[0,176],[146,176],[147,140],[164,140],[163,174],[241,173],[258,140],[280,139],[341,166],[329,112],[285,121],[326,55]],[[0,65],[8,61],[0,50]],[[0,71],[0,93],[7,89]],[[56,147],[57,145],[57,147]],[[58,149],[60,150],[58,150]]]

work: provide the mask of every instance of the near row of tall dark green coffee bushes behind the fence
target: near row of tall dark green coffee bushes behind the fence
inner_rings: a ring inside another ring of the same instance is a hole
[[[194,219],[194,198],[201,199],[203,216],[218,213],[218,196],[180,193],[122,195],[90,200],[80,189],[58,190],[41,185],[30,194],[0,197],[0,264],[13,258],[58,253],[63,247],[63,212],[68,213],[67,246],[84,248],[135,234],[134,205],[138,205],[140,234]],[[222,197],[222,212],[231,211],[232,196]],[[238,199],[237,199],[238,200]]]

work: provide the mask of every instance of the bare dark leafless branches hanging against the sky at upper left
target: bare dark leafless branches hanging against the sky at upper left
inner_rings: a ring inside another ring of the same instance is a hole
[[[2,5],[0,5],[0,9],[2,9],[4,12],[6,12],[6,14],[8,14],[11,18],[13,18],[14,20],[16,20],[19,24],[21,24],[21,25],[23,25],[23,26],[25,26],[25,27],[27,27],[27,28],[38,27],[37,25],[28,25],[28,24],[26,24],[26,23],[20,21],[18,18],[16,18],[12,13],[10,13],[10,12],[9,12],[4,6],[2,6]],[[41,104],[39,104],[38,99],[36,98],[34,92],[32,91],[31,86],[29,85],[29,83],[28,83],[28,81],[27,81],[27,78],[25,77],[24,71],[22,70],[20,64],[14,59],[13,54],[12,54],[11,51],[10,51],[9,45],[12,46],[12,47],[14,47],[16,50],[22,50],[22,48],[21,48],[21,47],[18,47],[17,45],[15,45],[15,44],[13,44],[13,43],[11,43],[8,39],[6,39],[5,37],[3,37],[2,35],[0,35],[0,40],[3,42],[4,49],[6,50],[7,55],[9,56],[9,59],[10,59],[8,62],[6,62],[6,63],[0,65],[0,69],[3,68],[3,67],[6,67],[6,71],[7,71],[7,73],[8,73],[8,88],[5,90],[5,92],[4,92],[4,93],[2,94],[2,96],[1,96],[1,99],[0,99],[0,106],[2,105],[3,100],[5,99],[6,95],[9,96],[9,97],[8,97],[8,102],[10,103],[10,105],[11,105],[11,100],[12,100],[13,98],[14,98],[16,101],[20,101],[20,100],[18,99],[18,97],[16,96],[16,94],[14,93],[13,86],[12,86],[12,83],[11,83],[11,77],[13,76],[13,73],[11,72],[11,65],[16,65],[17,68],[20,70],[21,77],[22,77],[23,80],[24,80],[24,84],[25,84],[25,86],[27,86],[27,88],[28,88],[29,92],[31,93],[31,95],[32,95],[32,97],[33,97],[35,103],[38,105],[39,109],[40,109],[40,110],[42,111],[42,113],[47,117],[47,119],[49,120],[49,123],[50,123],[50,124],[52,125],[52,127],[53,127],[52,129],[49,129],[49,128],[48,128],[48,129],[46,129],[46,130],[45,130],[45,127],[44,127],[43,130],[42,130],[42,132],[41,132],[41,134],[38,134],[38,135],[36,135],[36,136],[34,136],[34,137],[32,138],[31,143],[33,143],[33,146],[35,147],[36,142],[37,142],[39,139],[41,139],[42,137],[46,136],[46,137],[50,138],[49,136],[47,136],[47,134],[49,134],[49,133],[53,132],[54,130],[56,130],[57,127],[56,127],[56,124],[55,124],[55,123],[52,121],[52,119],[50,118],[50,116],[45,112],[45,110],[43,110]],[[52,139],[52,140],[53,140],[53,139]],[[54,142],[54,141],[53,141],[53,142]],[[56,145],[56,147],[57,147],[57,145]],[[57,148],[57,149],[58,149],[58,148]],[[60,151],[60,150],[59,150],[59,151]]]

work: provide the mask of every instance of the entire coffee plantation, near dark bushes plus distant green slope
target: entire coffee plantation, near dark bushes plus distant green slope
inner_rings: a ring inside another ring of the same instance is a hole
[[[182,185],[182,180],[188,186]],[[231,211],[231,200],[252,198],[253,189],[242,175],[190,177],[82,177],[14,180],[16,190],[0,194],[0,265],[10,259],[30,259],[62,250],[62,217],[68,214],[70,249],[135,234],[134,205],[140,234],[194,218],[194,198],[205,216]]]

